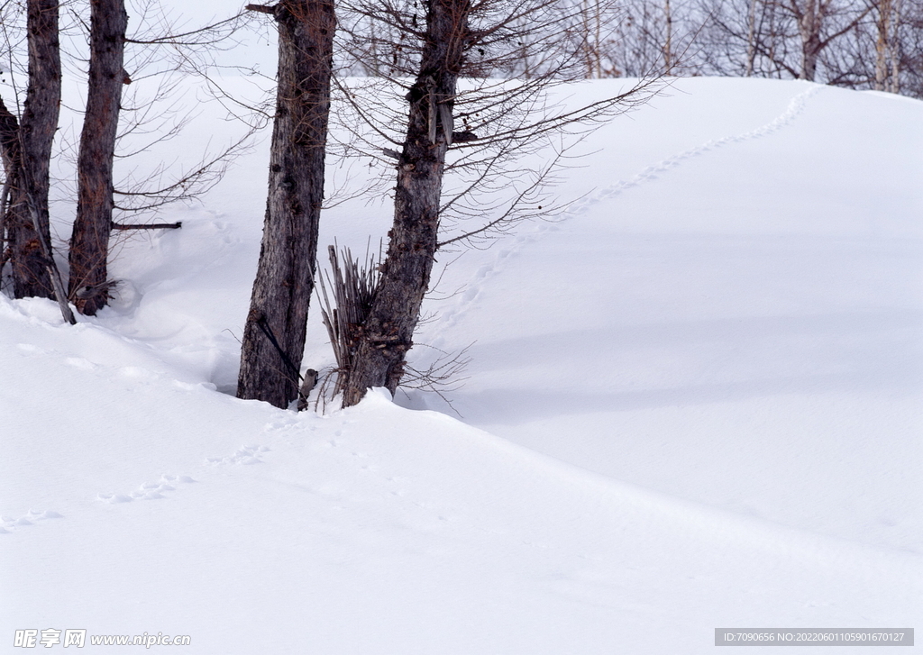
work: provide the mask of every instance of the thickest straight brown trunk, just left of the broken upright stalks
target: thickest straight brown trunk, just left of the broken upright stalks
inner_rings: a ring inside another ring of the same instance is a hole
[[[279,73],[269,197],[237,397],[285,408],[298,397],[314,291],[336,18],[332,0],[282,0],[273,7],[248,8],[276,19]]]

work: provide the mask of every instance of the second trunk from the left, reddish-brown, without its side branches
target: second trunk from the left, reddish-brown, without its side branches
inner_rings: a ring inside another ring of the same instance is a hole
[[[91,0],[90,84],[78,155],[77,220],[70,238],[70,290],[78,310],[95,315],[106,304],[109,234],[113,222],[113,157],[128,15],[125,0]],[[80,293],[79,290],[86,292]]]

